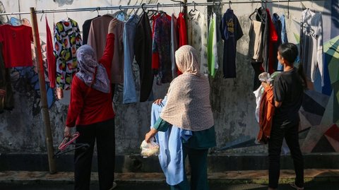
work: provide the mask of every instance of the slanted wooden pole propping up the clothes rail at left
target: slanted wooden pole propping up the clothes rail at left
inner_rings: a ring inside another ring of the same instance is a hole
[[[41,52],[41,44],[39,37],[39,30],[37,26],[37,13],[35,13],[35,8],[30,8],[30,20],[32,20],[32,30],[33,30],[33,39],[34,39],[34,47],[35,47],[35,60],[37,62],[37,73],[39,76],[39,84],[40,84],[40,102],[42,109],[42,120],[44,122],[44,134],[46,138],[47,145],[47,155],[48,155],[48,164],[49,164],[49,173],[54,174],[57,172],[54,162],[54,148],[53,148],[53,138],[52,138],[52,130],[51,130],[51,122],[49,121],[49,112],[47,106],[47,95],[46,95],[46,83],[44,82],[44,66],[42,62],[42,52]]]

